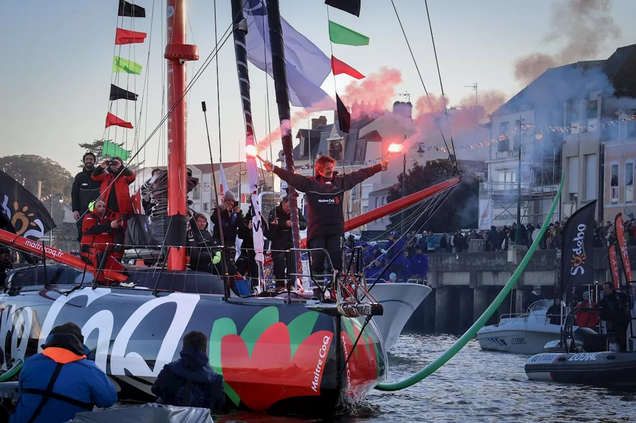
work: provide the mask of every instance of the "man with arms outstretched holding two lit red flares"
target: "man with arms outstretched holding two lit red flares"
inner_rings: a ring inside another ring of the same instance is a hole
[[[282,180],[301,192],[305,192],[307,202],[307,244],[309,248],[324,248],[329,253],[331,264],[336,271],[342,271],[342,243],[345,234],[343,200],[349,191],[366,178],[379,171],[387,170],[389,162],[384,160],[375,166],[338,175],[334,171],[336,161],[328,156],[320,156],[315,161],[314,177],[292,173],[269,161],[264,161],[266,170],[273,171]],[[323,250],[312,252],[312,272],[324,274],[325,254]]]

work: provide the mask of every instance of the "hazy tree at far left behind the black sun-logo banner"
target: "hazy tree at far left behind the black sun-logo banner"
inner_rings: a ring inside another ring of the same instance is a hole
[[[0,170],[24,185],[34,196],[38,196],[38,181],[42,181],[42,197],[49,194],[63,194],[64,200],[71,198],[73,175],[57,161],[36,156],[20,154],[0,158]]]

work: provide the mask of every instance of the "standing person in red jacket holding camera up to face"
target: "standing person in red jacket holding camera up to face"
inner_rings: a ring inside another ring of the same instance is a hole
[[[123,219],[121,220],[121,227],[112,232],[114,243],[123,245],[126,236],[127,219],[134,213],[128,185],[134,182],[135,173],[124,167],[121,158],[116,157],[111,160],[104,160],[102,164],[95,166],[91,177],[93,180],[101,182],[100,198],[106,201],[108,210],[116,213],[116,219]],[[123,248],[118,248],[116,257],[121,260]]]

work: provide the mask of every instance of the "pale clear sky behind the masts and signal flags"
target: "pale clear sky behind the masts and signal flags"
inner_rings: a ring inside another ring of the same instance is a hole
[[[563,1],[563,0],[561,0]],[[424,0],[394,0],[426,89],[439,95],[439,77],[431,44]],[[563,47],[560,40],[546,41],[553,22],[549,0],[431,0],[429,12],[435,36],[439,67],[450,104],[474,95],[466,87],[478,83],[479,90],[501,90],[510,97],[523,88],[515,79],[515,61],[532,52],[553,54]],[[0,54],[5,64],[0,75],[0,156],[39,154],[51,158],[74,173],[83,149],[78,143],[95,139],[125,142],[129,150],[151,135],[162,120],[163,32],[165,0],[135,0],[146,8],[146,18],[117,17],[117,0],[0,0]],[[605,59],[619,46],[636,43],[636,2],[614,0],[609,12],[621,30],[619,36],[602,43],[598,59]],[[327,7],[323,0],[280,0],[280,13],[328,56]],[[219,39],[231,22],[230,2],[218,1],[216,19]],[[409,93],[411,102],[424,95],[415,65],[397,22],[391,0],[363,0],[360,17],[329,8],[338,24],[370,37],[368,46],[334,45],[333,54],[363,74],[381,67],[398,69],[403,82],[396,89]],[[188,1],[188,43],[198,45],[200,60],[190,62],[188,77],[200,69],[215,45],[214,2]],[[114,46],[116,27],[147,32],[143,44]],[[143,65],[139,76],[113,74],[113,55]],[[223,161],[244,158],[244,121],[239,97],[233,43],[221,48],[193,85],[188,95],[188,163],[209,163],[209,150],[201,102],[207,104],[212,156],[219,160],[219,133]],[[256,138],[264,138],[278,126],[272,79],[250,65],[252,115]],[[118,79],[115,79],[118,78]],[[220,107],[217,98],[220,86]],[[333,95],[354,81],[347,75],[329,75],[322,88]],[[110,84],[116,83],[139,94],[139,101],[114,102],[112,111],[135,130],[111,127],[104,130],[109,109]],[[267,85],[266,85],[267,84]],[[145,86],[145,89],[144,89]],[[266,87],[269,103],[266,102]],[[396,97],[394,100],[405,100]],[[220,115],[218,110],[220,109]],[[300,109],[292,108],[292,112]],[[315,114],[315,117],[321,113]],[[322,112],[333,121],[333,112]],[[219,127],[220,116],[220,127]],[[269,119],[268,119],[269,116]],[[314,116],[312,116],[314,117]],[[293,128],[308,123],[301,122]],[[274,156],[280,142],[272,146]],[[139,158],[147,166],[164,164],[165,126],[141,149]],[[269,154],[269,152],[266,152]]]

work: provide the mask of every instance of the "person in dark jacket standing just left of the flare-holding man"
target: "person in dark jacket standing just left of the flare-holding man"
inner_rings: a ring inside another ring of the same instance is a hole
[[[272,260],[274,266],[274,279],[276,279],[277,290],[284,290],[286,272],[289,266],[289,253],[286,250],[293,248],[294,241],[291,237],[291,208],[289,197],[285,196],[280,200],[280,204],[270,211],[270,246],[272,250]],[[307,220],[298,209],[298,225],[300,230],[307,229]]]

